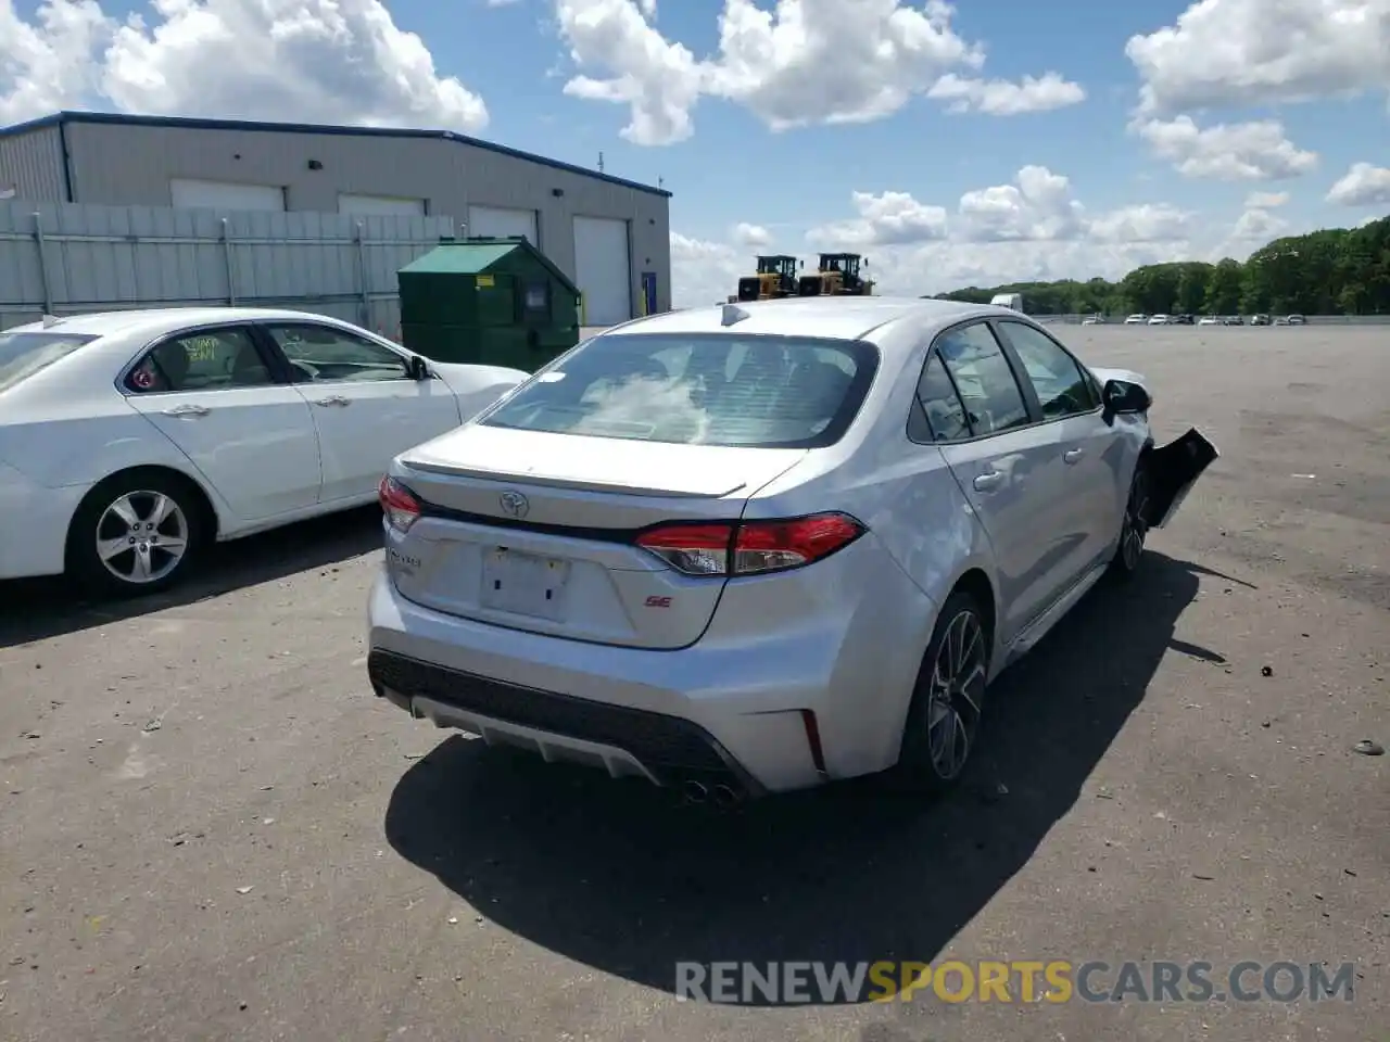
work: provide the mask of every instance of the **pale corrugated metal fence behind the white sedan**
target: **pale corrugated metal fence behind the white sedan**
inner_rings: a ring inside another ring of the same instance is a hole
[[[132,307],[292,307],[395,336],[396,272],[450,217],[0,201],[0,329]]]

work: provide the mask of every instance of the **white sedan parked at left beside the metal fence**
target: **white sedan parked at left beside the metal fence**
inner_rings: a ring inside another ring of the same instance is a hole
[[[171,585],[211,540],[371,503],[392,457],[527,378],[239,307],[0,332],[0,579]]]

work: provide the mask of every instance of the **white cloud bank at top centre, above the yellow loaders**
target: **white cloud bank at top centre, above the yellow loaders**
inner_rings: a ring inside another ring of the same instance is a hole
[[[667,40],[635,0],[556,0],[580,75],[569,93],[628,106],[623,136],[671,144],[694,133],[699,99],[719,97],[774,131],[853,124],[901,110],[917,94],[1005,115],[1074,104],[1084,92],[1058,74],[1022,83],[942,76],[979,72],[984,49],[962,39],[944,0],[724,0],[717,56],[696,60]]]

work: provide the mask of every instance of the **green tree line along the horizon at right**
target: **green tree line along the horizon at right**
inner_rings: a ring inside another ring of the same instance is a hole
[[[1175,261],[1134,268],[1119,282],[1011,282],[938,293],[987,304],[1022,293],[1029,314],[1390,314],[1390,217],[1275,239],[1241,263]]]

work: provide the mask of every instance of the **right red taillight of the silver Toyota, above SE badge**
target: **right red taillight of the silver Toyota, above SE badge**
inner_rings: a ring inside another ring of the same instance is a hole
[[[637,545],[687,575],[763,575],[828,557],[865,534],[848,514],[787,521],[676,522],[649,528]]]

